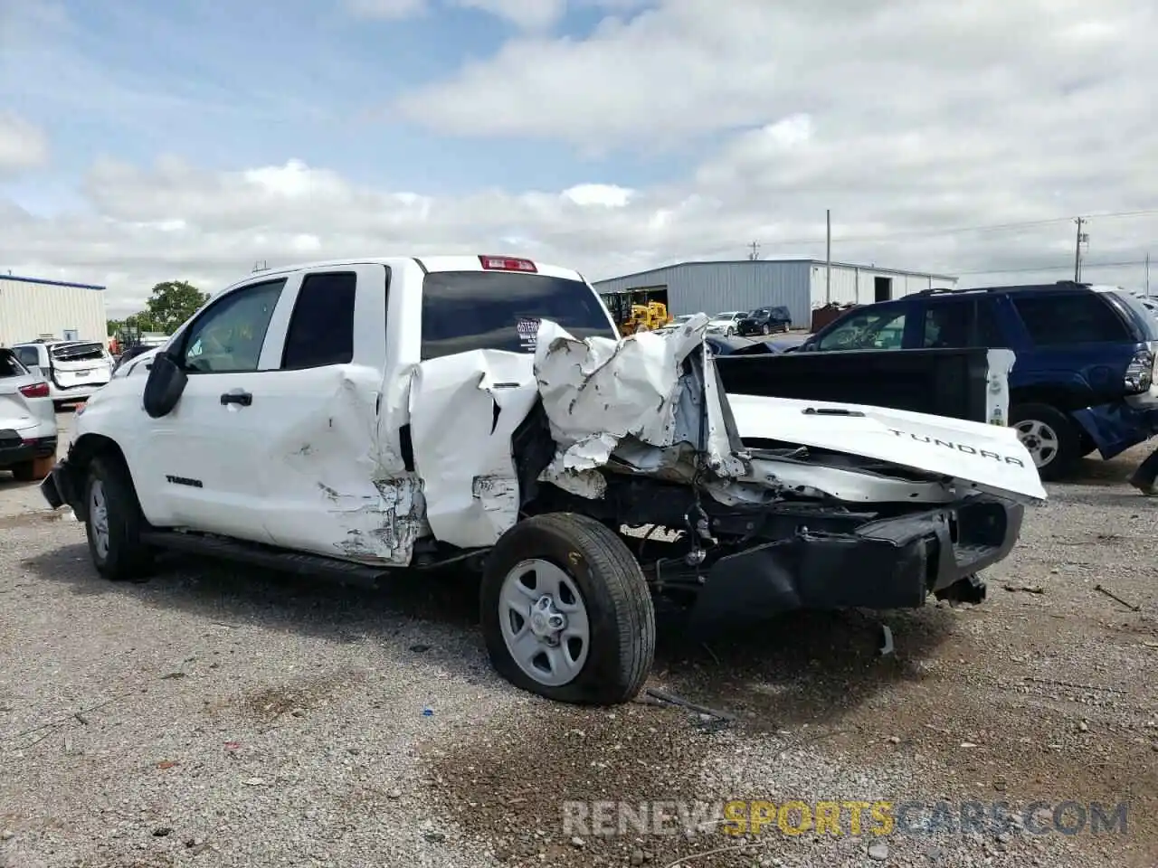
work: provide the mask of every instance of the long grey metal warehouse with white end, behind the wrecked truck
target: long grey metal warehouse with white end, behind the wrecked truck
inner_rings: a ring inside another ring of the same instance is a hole
[[[872,265],[833,263],[831,272],[830,297],[826,296],[826,263],[818,259],[679,263],[600,280],[594,286],[603,296],[642,294],[648,301],[666,302],[674,316],[783,304],[792,311],[793,328],[799,329],[809,328],[812,311],[829,301],[871,304],[957,286],[957,278],[948,274]]]

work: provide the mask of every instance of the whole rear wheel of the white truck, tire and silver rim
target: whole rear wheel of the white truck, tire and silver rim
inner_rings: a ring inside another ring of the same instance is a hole
[[[494,545],[481,591],[491,664],[563,703],[616,705],[643,687],[655,611],[631,550],[584,515],[519,522]]]

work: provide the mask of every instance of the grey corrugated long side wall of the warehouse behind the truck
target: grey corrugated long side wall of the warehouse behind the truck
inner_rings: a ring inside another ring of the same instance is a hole
[[[783,304],[794,326],[807,328],[812,318],[807,262],[684,263],[594,284],[600,293],[661,286],[673,316]]]

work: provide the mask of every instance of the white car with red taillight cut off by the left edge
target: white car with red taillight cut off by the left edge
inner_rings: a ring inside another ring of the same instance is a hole
[[[0,470],[23,483],[43,479],[57,456],[57,415],[49,384],[0,347]]]

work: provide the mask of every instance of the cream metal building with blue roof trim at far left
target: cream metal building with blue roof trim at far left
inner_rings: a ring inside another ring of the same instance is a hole
[[[0,274],[0,346],[107,336],[103,286]]]

